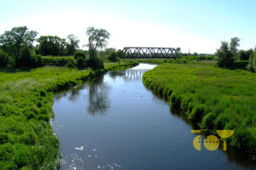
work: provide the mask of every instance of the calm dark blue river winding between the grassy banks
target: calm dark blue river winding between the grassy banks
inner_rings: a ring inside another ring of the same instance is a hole
[[[110,72],[55,95],[61,169],[254,169],[229,144],[228,151],[203,143],[195,150],[200,133],[191,133],[194,126],[143,86],[143,72],[153,67]]]

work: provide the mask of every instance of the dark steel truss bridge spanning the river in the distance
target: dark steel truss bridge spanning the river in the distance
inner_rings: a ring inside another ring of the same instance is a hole
[[[141,48],[125,47],[123,56],[125,59],[176,59],[179,58],[175,48]]]

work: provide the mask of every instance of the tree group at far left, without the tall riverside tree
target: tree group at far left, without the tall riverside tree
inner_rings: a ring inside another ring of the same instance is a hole
[[[37,31],[29,31],[26,26],[5,31],[0,36],[0,65],[38,66],[43,60],[40,55],[73,55],[79,48],[79,39],[73,34],[68,35],[67,39],[37,36]],[[34,42],[38,42],[38,45],[34,46]]]

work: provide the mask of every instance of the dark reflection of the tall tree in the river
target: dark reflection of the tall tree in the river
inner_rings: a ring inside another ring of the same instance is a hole
[[[92,115],[105,115],[110,107],[108,99],[108,85],[103,82],[103,77],[97,77],[89,82],[89,105],[87,112]]]

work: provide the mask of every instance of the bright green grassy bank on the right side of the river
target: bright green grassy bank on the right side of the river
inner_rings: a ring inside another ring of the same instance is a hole
[[[256,151],[255,73],[202,62],[162,64],[146,72],[143,82],[202,129],[234,129],[229,144]]]

